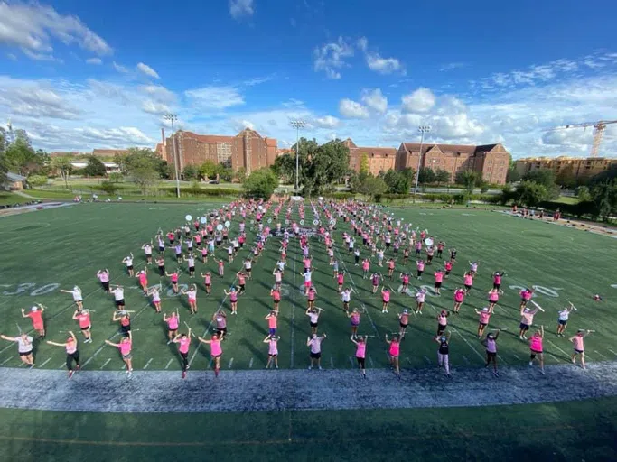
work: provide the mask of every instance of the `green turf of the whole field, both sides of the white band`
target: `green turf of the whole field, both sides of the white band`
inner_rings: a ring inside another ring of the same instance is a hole
[[[58,291],[78,284],[83,290],[85,306],[95,310],[92,314],[94,342],[80,345],[84,369],[120,370],[122,364],[117,350],[103,344],[106,338],[117,338],[117,324],[111,322],[115,310],[113,299],[100,290],[95,278],[98,269],[108,268],[112,283],[126,286],[126,309],[135,310],[132,322],[135,331],[134,367],[140,370],[179,371],[180,362],[175,348],[166,345],[161,315],[154,312],[149,300],[138,290],[136,279],[126,275],[121,260],[133,252],[138,268],[144,263],[143,251],[139,248],[154,236],[157,228],[167,231],[181,224],[187,213],[198,216],[219,206],[220,203],[81,204],[0,217],[0,232],[5,247],[0,267],[0,331],[6,335],[16,335],[15,323],[24,329],[29,328],[29,320],[22,319],[19,309],[41,302],[49,307],[45,313],[48,339],[61,341],[65,334],[60,331],[70,328],[78,333],[79,328],[71,319],[74,310],[71,297]],[[483,365],[483,349],[475,337],[477,315],[473,309],[484,306],[486,292],[491,288],[491,273],[495,270],[508,273],[502,284],[505,294],[491,318],[491,327],[509,328],[500,336],[501,364],[526,364],[527,344],[514,333],[519,325],[519,290],[529,285],[538,286],[535,300],[546,310],[546,313],[538,313],[535,320],[547,327],[547,364],[566,364],[569,360],[570,344],[553,333],[556,310],[566,304],[566,299],[572,300],[579,308],[571,317],[568,332],[573,333],[576,328],[597,330],[585,343],[587,361],[594,363],[617,357],[617,340],[612,335],[617,328],[617,320],[612,317],[614,292],[617,291],[611,287],[617,284],[614,279],[617,241],[614,239],[475,209],[393,208],[392,211],[406,222],[428,228],[432,235],[459,250],[458,263],[451,278],[444,283],[442,296],[427,297],[425,314],[411,319],[411,335],[401,348],[401,365],[404,368],[435,366],[436,348],[432,336],[435,335],[436,310],[452,308],[453,289],[462,285],[462,274],[468,268],[468,260],[479,260],[480,272],[471,296],[463,304],[461,315],[450,318],[453,331],[450,356],[453,365]],[[311,222],[313,216],[309,207],[306,214],[307,222]],[[234,223],[232,231],[236,229],[237,224]],[[361,319],[360,333],[379,336],[369,338],[369,370],[387,367],[386,344],[381,337],[397,331],[396,312],[413,308],[415,301],[405,294],[394,294],[389,314],[382,314],[380,298],[370,293],[369,281],[362,280],[360,268],[353,265],[351,255],[341,247],[340,233],[343,229],[346,226],[341,225],[337,231],[338,250],[342,252],[336,255],[341,259],[341,268],[349,272],[345,278],[346,285],[355,289],[351,306],[360,307],[363,304],[368,310]],[[248,240],[253,240],[250,233]],[[316,239],[311,244],[313,264],[316,266],[313,283],[319,291],[317,305],[325,310],[320,320],[320,330],[328,334],[328,340],[323,345],[323,366],[351,369],[350,357],[355,350],[349,340],[349,320],[341,310],[323,244]],[[238,317],[228,316],[230,335],[224,345],[223,374],[229,369],[259,369],[266,364],[266,345],[261,340],[267,333],[264,317],[271,306],[269,290],[274,283],[271,272],[278,256],[277,249],[275,239],[271,239],[265,254],[254,265],[254,279],[248,282],[248,293],[238,301]],[[220,250],[217,254],[220,258],[226,253]],[[243,251],[241,256],[246,254],[247,251]],[[415,268],[411,260],[405,268],[407,271]],[[279,364],[283,368],[304,368],[308,365],[305,342],[309,325],[304,316],[306,302],[300,291],[303,282],[300,275],[302,260],[295,242],[290,244],[287,261],[284,299],[278,323],[282,337],[279,342]],[[167,251],[166,262],[168,270],[176,267],[171,250]],[[434,266],[439,263],[437,261]],[[203,291],[201,278],[192,281],[186,273],[182,274],[181,283],[196,282],[200,288],[200,312],[195,317],[189,315],[186,300],[168,292],[168,283],[162,280],[163,310],[180,310],[181,319],[189,322],[198,334],[203,334],[208,330],[214,310],[220,306],[229,309],[229,300],[224,299],[223,289],[234,283],[240,264],[241,259],[238,258],[235,263],[226,264],[224,278],[214,277],[210,297]],[[186,263],[182,264],[182,269],[186,269]],[[149,277],[151,285],[159,283],[154,270]],[[198,263],[197,273],[206,270],[216,273],[216,263],[211,259],[206,265]],[[397,274],[400,271],[403,267],[399,260]],[[412,284],[415,287],[421,284],[432,287],[434,279],[427,273],[423,281],[412,280]],[[396,280],[386,283],[395,290],[399,286]],[[602,294],[604,301],[594,302],[591,299],[594,293]],[[8,342],[0,348],[0,364],[3,367],[19,367],[15,349]],[[39,344],[35,352],[37,368],[64,368],[62,348]],[[207,348],[196,349],[193,345],[191,356],[192,370],[210,367]],[[607,444],[604,437],[611,431],[614,434],[617,415],[614,399],[431,411],[336,411],[327,414],[307,411],[294,412],[291,417],[289,413],[276,412],[241,417],[236,414],[190,417],[136,414],[126,416],[128,420],[118,414],[71,413],[67,417],[67,414],[56,412],[9,410],[2,411],[2,414],[6,418],[3,419],[5,424],[0,426],[0,438],[6,444],[2,443],[0,447],[8,451],[8,456],[15,457],[17,451],[26,450],[28,459],[33,459],[49,451],[53,457],[65,460],[67,454],[75,459],[85,457],[84,451],[91,450],[91,446],[97,446],[101,458],[106,455],[107,459],[113,457],[114,451],[126,459],[139,454],[164,457],[173,454],[177,448],[188,451],[186,454],[189,457],[197,457],[200,451],[207,448],[210,454],[221,457],[233,454],[234,458],[271,459],[279,454],[306,455],[303,451],[311,448],[317,451],[312,452],[315,457],[339,460],[380,457],[384,454],[411,455],[421,459],[431,456],[469,459],[474,455],[486,457],[499,451],[512,451],[508,455],[500,454],[501,458],[509,458],[518,455],[514,452],[517,450],[526,457],[542,451],[545,458],[551,458],[551,453],[547,451],[555,451],[554,448],[561,446],[553,459],[567,459],[575,455],[580,456],[578,460],[600,460],[608,455],[605,459],[609,460],[614,457],[614,448],[613,452],[604,448]],[[28,430],[17,430],[11,425],[18,419],[14,414],[22,416],[23,420],[20,421],[29,424]],[[597,425],[601,421],[603,425]],[[131,430],[121,432],[118,427],[124,428],[128,422]],[[211,443],[210,440],[204,441],[195,429],[202,427],[206,429],[206,434],[215,422],[220,424],[221,429],[218,439]],[[557,422],[561,422],[561,426]],[[197,426],[193,429],[195,423]],[[79,425],[79,435],[76,434],[76,425]],[[542,430],[532,431],[529,427]],[[598,432],[599,427],[601,431]],[[172,435],[165,433],[165,428],[171,430]],[[192,430],[179,430],[189,428]],[[520,428],[527,430],[519,432]],[[498,431],[493,433],[491,429]],[[398,431],[400,438],[397,437]],[[435,442],[442,432],[445,438]],[[519,433],[513,438],[512,432]],[[363,444],[354,443],[353,435],[360,435]],[[288,438],[292,441],[289,442]],[[135,444],[120,446],[120,439],[134,441]],[[155,446],[154,443],[161,439],[169,444]],[[594,448],[585,447],[584,439],[595,440]],[[80,443],[79,440],[95,442]],[[102,442],[98,444],[96,441]],[[388,443],[386,448],[384,441]],[[575,452],[568,454],[570,450]],[[72,460],[70,457],[69,460]]]

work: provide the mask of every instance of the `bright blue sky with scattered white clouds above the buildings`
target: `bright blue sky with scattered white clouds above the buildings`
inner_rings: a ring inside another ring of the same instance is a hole
[[[154,148],[174,128],[285,148],[503,143],[587,155],[617,119],[617,2],[0,0],[0,125],[35,148]],[[601,155],[617,155],[617,124]]]

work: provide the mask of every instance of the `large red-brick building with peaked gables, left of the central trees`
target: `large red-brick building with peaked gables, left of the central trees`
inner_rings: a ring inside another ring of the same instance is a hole
[[[247,174],[272,165],[276,158],[276,139],[262,137],[255,130],[245,128],[236,136],[194,134],[179,130],[165,140],[164,152],[174,171],[173,143],[178,157],[178,168],[187,165],[199,166],[211,161],[224,163],[233,171],[245,168]]]

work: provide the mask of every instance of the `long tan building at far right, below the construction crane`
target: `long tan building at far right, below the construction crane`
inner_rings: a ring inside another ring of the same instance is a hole
[[[521,176],[537,170],[552,170],[556,176],[569,171],[576,180],[591,178],[612,165],[617,165],[617,159],[607,157],[527,157],[514,162],[514,168]]]

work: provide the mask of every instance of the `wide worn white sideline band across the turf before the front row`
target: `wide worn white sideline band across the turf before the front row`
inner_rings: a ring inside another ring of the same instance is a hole
[[[45,411],[247,412],[324,409],[402,409],[560,402],[617,395],[617,363],[440,369],[79,372],[3,368],[0,407]]]

